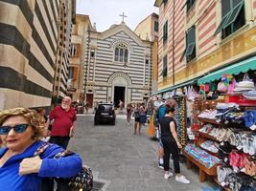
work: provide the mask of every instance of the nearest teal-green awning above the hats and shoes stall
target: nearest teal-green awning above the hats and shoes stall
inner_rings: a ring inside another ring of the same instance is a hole
[[[223,74],[240,74],[246,73],[248,70],[256,70],[256,56],[232,64],[211,74],[207,74],[204,77],[198,79],[198,85],[220,79]]]

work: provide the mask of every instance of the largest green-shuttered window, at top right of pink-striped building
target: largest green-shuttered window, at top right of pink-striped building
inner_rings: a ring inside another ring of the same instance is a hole
[[[221,15],[221,23],[214,34],[221,32],[223,39],[245,25],[244,0],[222,0]]]

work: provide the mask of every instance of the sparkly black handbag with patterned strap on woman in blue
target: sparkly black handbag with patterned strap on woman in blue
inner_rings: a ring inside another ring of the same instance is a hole
[[[51,144],[46,142],[42,146],[38,147],[35,151],[34,156],[41,155],[48,146]],[[58,153],[54,159],[64,158],[70,155],[74,155],[73,152],[64,150]],[[92,171],[88,166],[82,165],[81,171],[75,175],[74,177],[68,179],[55,178],[59,184],[61,184],[60,190],[68,190],[68,191],[91,191],[93,188],[93,175]]]

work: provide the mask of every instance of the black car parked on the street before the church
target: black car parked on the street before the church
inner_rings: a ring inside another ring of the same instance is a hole
[[[111,103],[100,103],[94,116],[94,125],[100,122],[115,125],[116,115],[115,108]]]

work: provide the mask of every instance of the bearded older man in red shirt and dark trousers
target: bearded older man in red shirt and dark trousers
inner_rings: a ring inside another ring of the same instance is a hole
[[[70,105],[71,98],[64,96],[61,105],[55,107],[50,114],[50,120],[54,122],[49,142],[56,143],[64,149],[67,148],[69,138],[73,136],[74,122],[77,120],[76,112]]]

